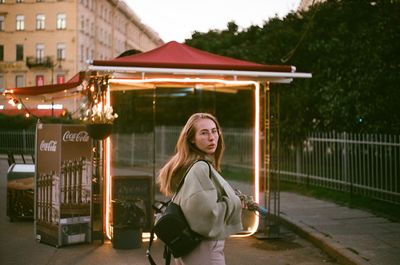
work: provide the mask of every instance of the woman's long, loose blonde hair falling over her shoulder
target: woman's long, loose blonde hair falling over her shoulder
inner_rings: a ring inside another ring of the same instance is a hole
[[[213,165],[220,170],[220,163],[225,149],[224,138],[217,119],[209,113],[195,113],[187,120],[183,127],[178,142],[176,143],[175,155],[161,168],[158,176],[160,191],[169,196],[173,194],[186,169],[197,159],[204,159],[206,154],[191,143],[195,134],[195,124],[200,119],[210,119],[215,123],[218,130],[218,143],[213,157]]]

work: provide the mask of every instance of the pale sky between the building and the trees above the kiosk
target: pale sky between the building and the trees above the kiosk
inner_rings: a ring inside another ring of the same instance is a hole
[[[234,21],[239,30],[284,17],[300,0],[124,0],[142,23],[164,42],[184,42],[194,31],[223,30]]]

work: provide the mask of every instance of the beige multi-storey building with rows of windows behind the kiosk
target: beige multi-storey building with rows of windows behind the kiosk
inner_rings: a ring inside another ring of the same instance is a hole
[[[0,0],[0,92],[64,83],[93,59],[161,44],[121,0]]]

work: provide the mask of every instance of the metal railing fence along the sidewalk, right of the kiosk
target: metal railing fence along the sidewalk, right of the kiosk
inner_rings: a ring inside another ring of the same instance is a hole
[[[286,181],[400,204],[400,136],[313,133],[281,146],[278,173]]]

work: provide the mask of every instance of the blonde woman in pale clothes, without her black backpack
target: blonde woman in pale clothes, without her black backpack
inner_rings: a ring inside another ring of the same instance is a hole
[[[177,265],[224,265],[225,238],[242,229],[240,198],[218,173],[223,151],[217,119],[196,113],[181,131],[176,154],[160,171],[160,190],[170,196],[190,168],[174,202],[181,206],[192,230],[205,238],[191,253],[175,259]],[[202,160],[208,161],[211,170]]]

